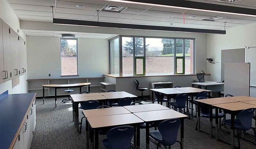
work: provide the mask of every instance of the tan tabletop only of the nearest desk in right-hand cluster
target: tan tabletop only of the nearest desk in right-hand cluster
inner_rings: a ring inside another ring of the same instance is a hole
[[[222,109],[227,109],[230,111],[238,111],[238,110],[244,110],[248,108],[256,108],[256,105],[246,104],[243,102],[233,102],[233,103],[226,103],[226,104],[217,104],[213,105],[215,107],[219,107]]]

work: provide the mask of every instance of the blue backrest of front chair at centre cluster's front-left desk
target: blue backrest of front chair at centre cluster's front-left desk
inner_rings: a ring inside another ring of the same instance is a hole
[[[130,149],[133,134],[132,126],[119,126],[110,129],[107,138],[113,149]]]

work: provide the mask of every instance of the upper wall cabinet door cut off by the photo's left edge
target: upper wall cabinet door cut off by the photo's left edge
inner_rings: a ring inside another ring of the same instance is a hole
[[[0,84],[4,83],[5,74],[4,72],[4,51],[3,51],[3,24],[0,19]]]

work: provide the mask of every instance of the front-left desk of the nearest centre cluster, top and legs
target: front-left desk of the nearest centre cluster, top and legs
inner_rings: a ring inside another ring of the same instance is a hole
[[[107,108],[108,109],[108,108]],[[94,130],[95,136],[95,149],[99,148],[99,130],[103,128],[117,127],[123,125],[131,125],[137,131],[137,135],[140,131],[140,124],[144,123],[139,117],[134,114],[118,114],[118,115],[108,115],[108,116],[99,116],[99,117],[89,117],[87,118],[87,122],[89,123],[92,131]],[[91,133],[92,134],[92,133]],[[93,136],[91,136],[93,138]],[[91,143],[93,139],[91,139]],[[136,142],[134,145],[140,146],[140,137],[137,136]]]

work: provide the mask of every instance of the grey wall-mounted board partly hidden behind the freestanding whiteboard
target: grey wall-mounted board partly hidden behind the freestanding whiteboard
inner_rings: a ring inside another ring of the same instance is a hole
[[[221,81],[224,80],[226,62],[245,62],[245,48],[221,50]]]

